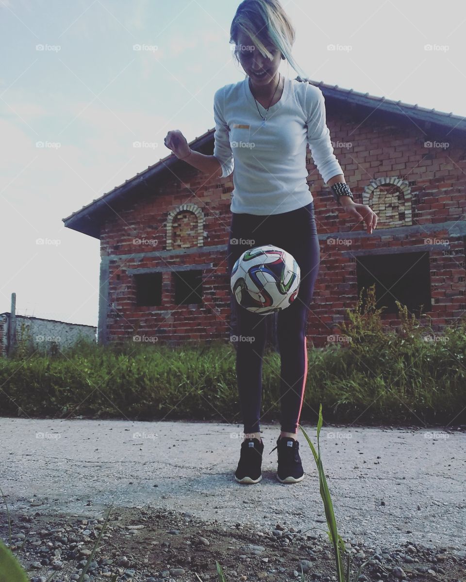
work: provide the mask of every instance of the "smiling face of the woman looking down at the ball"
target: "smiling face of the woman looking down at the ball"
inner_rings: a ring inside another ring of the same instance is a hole
[[[268,56],[263,56],[247,34],[243,32],[238,34],[237,49],[239,62],[245,70],[245,73],[249,75],[253,85],[257,87],[264,87],[268,83],[277,83],[278,80],[281,51],[271,44],[270,41],[264,44],[272,54],[273,59],[269,59]],[[257,76],[256,73],[263,74],[262,76]]]

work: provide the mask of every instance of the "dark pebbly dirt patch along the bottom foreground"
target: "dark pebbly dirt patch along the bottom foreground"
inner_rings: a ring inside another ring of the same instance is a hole
[[[106,515],[107,511],[99,519],[91,519],[84,514],[52,517],[37,511],[12,512],[12,550],[31,580],[46,580],[52,572],[54,582],[77,580],[87,560],[86,551],[93,549]],[[0,534],[8,544],[5,513]],[[447,548],[422,548],[411,541],[397,548],[351,547],[349,543],[347,548],[352,555],[351,580],[359,565],[374,554],[377,556],[363,569],[361,582],[399,580],[398,576],[403,577],[400,568],[407,580],[466,580],[465,557]],[[111,509],[86,580],[111,580],[118,574],[118,581],[214,581],[216,560],[227,581],[299,580],[296,573],[301,576],[301,564],[305,580],[336,580],[333,548],[325,534],[281,524],[274,531],[257,531],[240,523],[204,522],[188,512],[121,507]]]

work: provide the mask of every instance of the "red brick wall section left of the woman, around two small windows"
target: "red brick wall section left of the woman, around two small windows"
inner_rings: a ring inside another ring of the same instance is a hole
[[[199,248],[198,253],[171,255],[168,257],[133,258],[110,261],[109,301],[114,303],[114,313],[108,318],[108,339],[118,341],[135,333],[145,335],[146,341],[189,342],[205,339],[230,338],[230,297],[227,286],[227,262],[225,253],[209,253],[209,246],[227,243],[230,227],[230,199],[233,188],[232,175],[222,183],[206,182],[201,172],[186,165],[179,166],[184,182],[176,190],[176,184],[164,184],[164,191],[151,200],[142,201],[126,211],[119,211],[105,225],[101,237],[101,254],[130,256],[132,253],[167,251],[167,215],[182,204],[195,204],[203,212],[204,246],[196,245],[197,220],[192,212],[182,211],[172,221],[173,244],[168,250],[179,250],[186,243],[188,248]],[[224,184],[224,186],[223,186]],[[124,221],[124,222],[123,222]],[[126,223],[126,224],[125,224]],[[123,225],[123,226],[122,226]],[[129,225],[129,226],[128,226]],[[129,228],[130,227],[130,228]],[[135,233],[140,240],[153,240],[147,246],[133,243]],[[177,305],[174,303],[174,284],[170,271],[163,273],[163,305],[137,307],[136,286],[126,269],[170,267],[171,265],[196,265],[212,263],[214,267],[204,271],[203,305]],[[119,279],[117,276],[119,275]],[[118,313],[115,313],[117,311]],[[170,313],[172,312],[172,313]]]

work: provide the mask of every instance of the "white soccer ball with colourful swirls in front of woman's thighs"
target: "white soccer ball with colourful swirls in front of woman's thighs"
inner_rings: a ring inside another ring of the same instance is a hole
[[[267,315],[296,299],[301,269],[293,255],[273,244],[246,250],[233,265],[231,290],[239,305]]]

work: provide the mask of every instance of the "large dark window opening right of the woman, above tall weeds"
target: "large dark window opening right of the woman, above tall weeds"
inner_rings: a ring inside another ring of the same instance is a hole
[[[375,283],[376,308],[386,307],[382,314],[398,313],[396,300],[407,306],[415,317],[420,317],[421,311],[432,311],[429,253],[369,255],[356,259],[358,296],[364,287],[364,303],[367,289]]]

